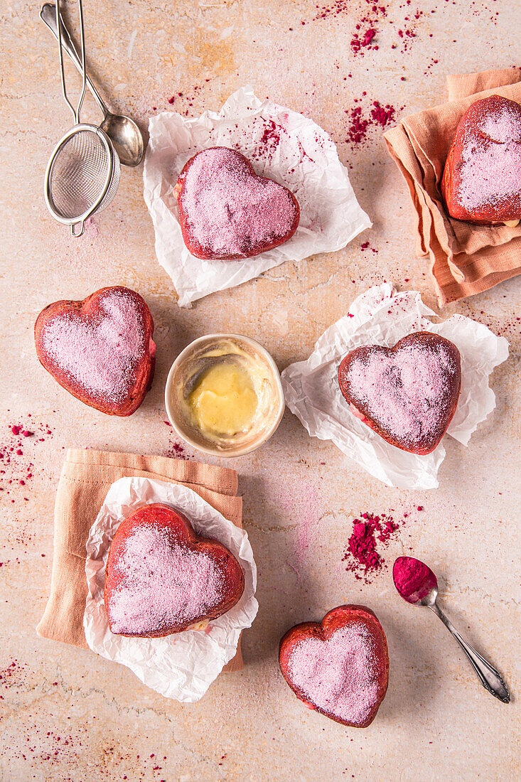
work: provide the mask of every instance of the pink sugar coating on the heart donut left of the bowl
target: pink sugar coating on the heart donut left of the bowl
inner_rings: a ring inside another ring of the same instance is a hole
[[[134,298],[124,291],[108,290],[99,307],[97,320],[70,312],[48,321],[41,344],[93,399],[117,403],[135,384],[135,367],[147,348],[145,328]]]

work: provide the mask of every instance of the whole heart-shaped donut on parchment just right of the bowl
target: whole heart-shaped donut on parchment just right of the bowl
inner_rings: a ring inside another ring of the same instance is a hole
[[[338,380],[351,411],[379,436],[411,454],[430,454],[456,411],[461,358],[448,339],[415,332],[392,348],[351,350]]]

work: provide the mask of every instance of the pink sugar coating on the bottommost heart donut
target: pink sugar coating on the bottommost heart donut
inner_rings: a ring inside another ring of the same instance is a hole
[[[289,658],[289,673],[307,701],[354,725],[365,722],[378,698],[374,642],[360,622],[329,640],[302,640]]]

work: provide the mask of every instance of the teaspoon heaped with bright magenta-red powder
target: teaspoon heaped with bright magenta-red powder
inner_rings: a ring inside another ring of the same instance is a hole
[[[500,673],[487,662],[479,652],[462,639],[458,630],[452,626],[436,602],[438,596],[438,581],[433,571],[414,557],[398,557],[393,565],[393,581],[398,594],[411,605],[428,606],[444,623],[447,630],[455,637],[462,650],[469,658],[472,668],[476,671],[478,679],[496,698],[503,703],[510,702],[505,682]]]

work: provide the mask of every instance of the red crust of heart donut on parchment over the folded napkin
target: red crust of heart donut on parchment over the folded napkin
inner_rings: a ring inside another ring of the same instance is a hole
[[[223,574],[225,582],[224,597],[214,610],[210,613],[195,617],[189,622],[180,622],[166,630],[158,629],[153,633],[136,633],[135,635],[126,635],[126,637],[139,638],[161,638],[172,633],[181,633],[187,630],[196,622],[203,622],[205,619],[217,619],[218,616],[225,614],[230,608],[239,602],[244,591],[244,574],[239,562],[235,559],[231,551],[219,543],[214,538],[201,537],[196,534],[188,518],[173,508],[160,503],[145,505],[138,508],[137,511],[125,518],[124,522],[116,530],[110,544],[109,558],[106,563],[105,571],[105,590],[103,599],[105,601],[106,615],[110,626],[110,597],[114,590],[117,590],[121,582],[121,571],[118,568],[118,559],[124,551],[125,541],[131,533],[143,526],[162,527],[168,529],[176,543],[185,543],[192,551],[199,551],[208,554],[215,562]]]

